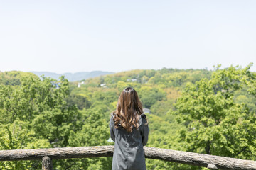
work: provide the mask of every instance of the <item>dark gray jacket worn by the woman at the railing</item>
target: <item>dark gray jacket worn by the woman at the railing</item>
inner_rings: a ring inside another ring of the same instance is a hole
[[[113,115],[110,118],[110,136],[114,140],[114,155],[112,170],[146,169],[143,146],[146,145],[149,135],[149,126],[146,123],[146,115],[139,118],[139,129],[134,128],[127,132],[120,126],[114,128]]]

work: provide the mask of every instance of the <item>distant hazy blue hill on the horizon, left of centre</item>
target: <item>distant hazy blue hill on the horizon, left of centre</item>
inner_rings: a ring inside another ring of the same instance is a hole
[[[89,79],[92,77],[99,77],[105,74],[112,74],[114,72],[102,72],[102,71],[93,71],[93,72],[75,72],[75,73],[63,73],[57,74],[54,72],[31,72],[36,74],[38,77],[44,75],[44,77],[51,77],[53,79],[58,79],[60,76],[65,76],[68,81],[80,81],[83,79]]]

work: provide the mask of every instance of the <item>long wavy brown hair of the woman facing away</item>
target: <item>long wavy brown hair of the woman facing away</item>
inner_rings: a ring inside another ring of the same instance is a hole
[[[143,113],[142,102],[132,87],[125,88],[119,96],[117,109],[113,111],[115,128],[121,125],[127,132],[139,128],[139,115]]]

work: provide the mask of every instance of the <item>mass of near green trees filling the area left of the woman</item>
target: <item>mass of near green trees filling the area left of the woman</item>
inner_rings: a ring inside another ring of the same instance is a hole
[[[100,118],[102,113],[98,111],[78,111],[75,105],[67,103],[70,91],[64,77],[59,81],[44,77],[41,80],[24,74],[19,80],[19,85],[0,84],[0,149],[106,145],[107,121]],[[95,140],[94,135],[101,140]],[[85,142],[85,139],[89,140]],[[73,167],[74,162],[76,169],[76,162],[81,162],[78,159],[60,159],[54,164],[59,169],[67,169]],[[94,162],[99,167],[109,165],[108,159],[85,159],[83,162]],[[91,166],[84,163],[77,169]],[[0,167],[41,169],[41,162],[0,162]]]

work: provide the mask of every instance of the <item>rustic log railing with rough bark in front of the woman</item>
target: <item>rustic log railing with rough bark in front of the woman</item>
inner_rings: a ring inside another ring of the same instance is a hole
[[[42,159],[42,169],[51,170],[53,169],[51,159],[112,157],[113,151],[114,146],[1,150],[0,161]],[[154,147],[144,147],[144,152],[146,158],[203,166],[208,169],[256,170],[255,161],[244,159],[218,157]]]

